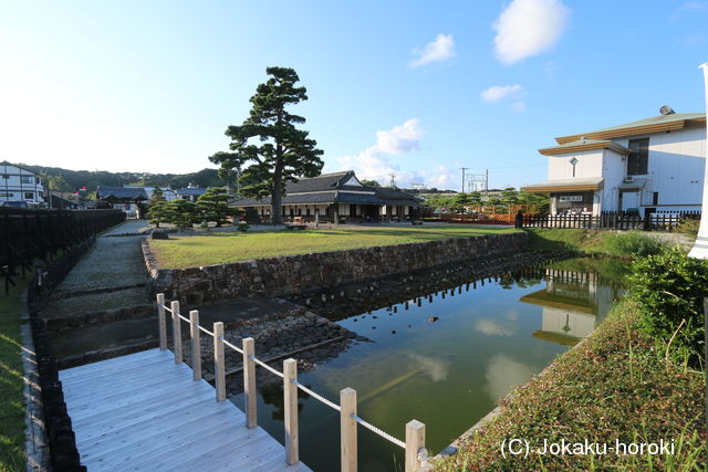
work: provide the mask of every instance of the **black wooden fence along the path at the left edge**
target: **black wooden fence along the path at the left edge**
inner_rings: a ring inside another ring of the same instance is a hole
[[[29,210],[0,208],[0,276],[6,292],[12,277],[33,271],[35,260],[49,263],[59,251],[86,241],[125,220],[122,210]]]

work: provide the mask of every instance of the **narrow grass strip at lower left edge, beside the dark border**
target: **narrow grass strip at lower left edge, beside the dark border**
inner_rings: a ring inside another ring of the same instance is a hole
[[[20,295],[28,281],[0,293],[0,471],[24,470]]]

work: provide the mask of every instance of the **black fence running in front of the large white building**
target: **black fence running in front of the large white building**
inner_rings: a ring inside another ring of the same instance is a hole
[[[636,212],[603,211],[593,214],[524,214],[524,228],[582,228],[612,230],[674,231],[686,220],[700,219],[700,211],[662,212],[641,216]]]

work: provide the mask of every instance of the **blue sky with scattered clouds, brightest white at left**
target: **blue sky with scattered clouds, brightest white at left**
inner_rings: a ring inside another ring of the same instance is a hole
[[[545,179],[553,137],[702,112],[702,1],[2,1],[0,160],[214,167],[266,67],[325,171],[460,188]]]

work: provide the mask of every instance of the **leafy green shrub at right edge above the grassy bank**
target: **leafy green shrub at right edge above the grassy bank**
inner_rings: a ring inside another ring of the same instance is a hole
[[[695,356],[702,358],[708,261],[689,258],[678,248],[665,250],[634,261],[629,281],[642,331],[670,342],[673,352],[687,352],[694,360]]]

